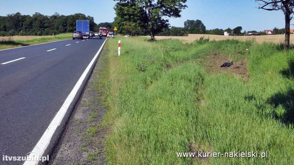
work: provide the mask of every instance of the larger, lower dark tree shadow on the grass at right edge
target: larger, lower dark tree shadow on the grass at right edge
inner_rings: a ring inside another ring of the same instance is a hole
[[[294,90],[278,92],[268,99],[268,103],[275,107],[274,115],[284,124],[294,123]]]

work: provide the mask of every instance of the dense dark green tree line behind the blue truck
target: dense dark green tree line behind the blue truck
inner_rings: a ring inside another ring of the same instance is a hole
[[[52,16],[45,16],[40,13],[30,15],[8,14],[0,16],[0,36],[44,36],[59,33],[72,33],[76,30],[76,20],[83,19],[90,21],[90,31],[98,31],[99,27],[111,28],[112,23],[94,22],[94,18],[85,14],[76,13],[69,16],[54,13]],[[99,26],[100,25],[100,26]]]

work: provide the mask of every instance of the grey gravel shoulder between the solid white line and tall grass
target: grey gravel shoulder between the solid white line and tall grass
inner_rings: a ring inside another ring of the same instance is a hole
[[[101,61],[101,56],[107,54],[104,50],[50,164],[106,164],[103,141],[108,128],[101,127],[106,108],[103,106],[103,94],[97,88],[101,70],[107,65]]]

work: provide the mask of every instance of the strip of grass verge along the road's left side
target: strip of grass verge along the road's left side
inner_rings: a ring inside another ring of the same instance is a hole
[[[29,38],[30,39],[26,39],[26,40],[13,40],[12,38],[1,40],[0,50],[20,47],[20,46],[29,46],[29,45],[39,44],[39,43],[71,39],[72,33],[63,33],[63,34],[58,34],[56,36],[44,36],[44,37],[30,36]]]

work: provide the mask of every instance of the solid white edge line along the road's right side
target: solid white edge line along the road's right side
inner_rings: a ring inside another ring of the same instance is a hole
[[[106,39],[107,40],[107,39]],[[50,125],[48,126],[48,128],[46,129],[46,131],[44,132],[44,134],[42,135],[41,139],[39,140],[39,142],[35,145],[39,147],[39,151],[41,151],[41,155],[44,154],[46,148],[48,147],[50,140],[55,132],[55,130],[57,129],[57,127],[59,126],[59,124],[61,123],[62,119],[64,118],[64,115],[66,114],[69,106],[71,105],[71,102],[74,100],[74,97],[76,96],[78,90],[80,89],[81,85],[83,84],[83,81],[85,80],[88,72],[90,71],[92,65],[94,65],[96,59],[98,58],[99,53],[101,52],[106,40],[103,42],[102,46],[100,47],[100,49],[98,50],[98,52],[96,53],[96,55],[94,56],[94,58],[91,60],[91,62],[89,63],[89,65],[87,66],[86,70],[83,72],[83,74],[81,75],[80,79],[78,79],[78,82],[76,83],[76,85],[74,86],[73,90],[70,92],[70,94],[68,95],[68,97],[66,98],[66,100],[64,101],[63,105],[61,106],[61,108],[59,109],[59,111],[57,112],[57,114],[55,115],[54,119],[51,121]],[[33,146],[32,146],[33,148]],[[32,152],[34,152],[34,149],[32,150]],[[29,156],[32,157],[34,156],[34,153],[31,153]],[[34,160],[34,161],[33,161]],[[38,164],[39,159],[32,159],[32,161],[25,161],[24,165],[31,165],[31,164]]]

